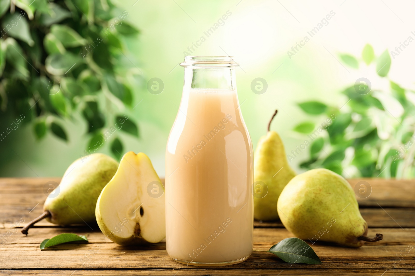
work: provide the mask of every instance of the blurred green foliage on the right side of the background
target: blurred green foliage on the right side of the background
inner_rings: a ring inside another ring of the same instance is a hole
[[[372,81],[379,78],[376,84],[387,82],[388,87],[371,87],[358,79],[342,91],[347,96],[345,106],[317,101],[300,103],[299,107],[309,115],[335,116],[330,124],[322,124],[321,132],[316,132],[320,126],[316,128],[313,122],[303,122],[294,128],[308,134],[312,141],[310,158],[300,166],[327,168],[348,178],[413,178],[415,91],[387,79],[391,67],[388,50],[375,58],[372,46],[367,44],[361,58],[342,54],[340,59],[354,69],[359,68],[359,60],[368,66],[376,62],[377,76],[373,74]]]

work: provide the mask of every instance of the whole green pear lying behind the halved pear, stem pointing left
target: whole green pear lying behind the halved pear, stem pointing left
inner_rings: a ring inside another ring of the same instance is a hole
[[[43,218],[61,225],[95,222],[98,197],[117,168],[118,162],[105,154],[90,154],[74,161],[46,198],[44,213],[22,228],[22,233],[27,235],[27,230]]]

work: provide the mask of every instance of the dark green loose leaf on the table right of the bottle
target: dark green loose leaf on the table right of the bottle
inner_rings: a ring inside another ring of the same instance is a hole
[[[299,238],[286,238],[273,245],[268,252],[280,257],[284,262],[296,264],[321,264],[320,258],[305,241]]]

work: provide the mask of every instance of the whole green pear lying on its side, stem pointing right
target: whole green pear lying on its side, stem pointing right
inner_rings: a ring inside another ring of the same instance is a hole
[[[295,176],[281,192],[277,204],[283,225],[295,236],[310,242],[334,242],[361,247],[368,226],[362,218],[354,191],[337,173],[314,169]]]

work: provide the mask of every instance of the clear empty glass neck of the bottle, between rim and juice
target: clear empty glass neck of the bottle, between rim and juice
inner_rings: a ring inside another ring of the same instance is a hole
[[[186,66],[183,91],[190,89],[236,90],[234,67]]]

